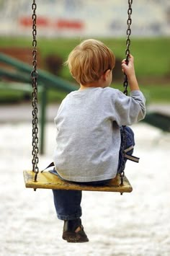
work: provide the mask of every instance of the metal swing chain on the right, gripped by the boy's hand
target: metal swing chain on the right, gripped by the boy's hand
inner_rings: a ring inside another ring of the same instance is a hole
[[[125,62],[127,65],[129,62],[129,55],[130,55],[130,35],[131,35],[130,25],[132,24],[131,14],[133,12],[132,4],[133,4],[133,0],[128,0],[128,5],[129,5],[128,6],[128,20],[127,20],[128,29],[126,31],[127,39],[126,39],[126,50],[125,50],[125,56],[126,56]],[[123,93],[126,96],[128,96],[128,77],[126,74],[124,77],[123,87],[124,87]],[[126,144],[126,133],[125,133],[125,125],[123,125],[122,126],[122,149],[123,150],[125,149],[125,144]],[[125,153],[123,152],[123,154],[125,154]],[[121,180],[120,185],[123,185],[123,178],[125,176],[124,169],[125,169],[125,156],[123,156],[123,164],[122,164],[122,169],[120,172],[120,180]],[[121,193],[121,195],[122,195],[122,193]]]

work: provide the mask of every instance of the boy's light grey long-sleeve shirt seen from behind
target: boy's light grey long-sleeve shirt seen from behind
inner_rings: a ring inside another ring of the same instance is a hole
[[[145,97],[130,97],[110,87],[71,92],[55,118],[54,163],[66,180],[91,182],[115,177],[120,151],[120,125],[146,115]]]

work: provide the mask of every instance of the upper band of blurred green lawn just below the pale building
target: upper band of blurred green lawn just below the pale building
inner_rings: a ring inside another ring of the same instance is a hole
[[[116,58],[125,58],[125,39],[99,38],[115,53]],[[79,38],[39,38],[37,48],[45,58],[50,53],[57,54],[66,61],[68,53],[80,43]],[[137,76],[164,76],[170,74],[170,37],[160,38],[132,38],[131,53],[135,56],[135,70]],[[0,37],[0,47],[32,47],[32,38]],[[67,77],[68,71],[63,67],[62,76]],[[69,76],[70,78],[70,76]]]

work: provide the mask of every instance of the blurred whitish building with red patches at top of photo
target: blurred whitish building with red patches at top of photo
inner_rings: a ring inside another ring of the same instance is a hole
[[[37,0],[38,35],[125,36],[128,0]],[[0,0],[0,35],[30,35],[32,1]],[[169,36],[169,0],[133,0],[134,36]]]

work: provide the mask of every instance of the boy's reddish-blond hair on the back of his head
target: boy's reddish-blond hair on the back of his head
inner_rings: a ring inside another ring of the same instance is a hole
[[[69,54],[66,61],[71,75],[79,84],[90,84],[98,81],[102,74],[115,66],[115,56],[99,40],[84,40]]]

